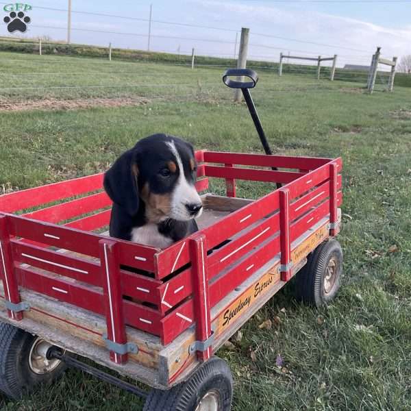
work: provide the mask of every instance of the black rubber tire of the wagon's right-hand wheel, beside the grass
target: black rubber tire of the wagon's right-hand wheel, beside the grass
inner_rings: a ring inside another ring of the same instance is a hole
[[[329,292],[324,290],[324,279],[329,261],[334,258],[336,274],[334,284]],[[343,275],[343,250],[335,240],[326,240],[309,254],[307,264],[295,278],[295,294],[299,301],[321,307],[332,301],[340,288]]]

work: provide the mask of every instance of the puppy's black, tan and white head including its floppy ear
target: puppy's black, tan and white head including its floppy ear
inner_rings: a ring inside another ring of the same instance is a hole
[[[137,214],[142,200],[149,221],[187,221],[202,211],[196,173],[191,145],[177,137],[155,134],[116,160],[105,173],[104,188],[131,216]]]

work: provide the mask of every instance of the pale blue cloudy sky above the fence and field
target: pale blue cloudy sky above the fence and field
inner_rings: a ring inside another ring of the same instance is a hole
[[[27,3],[33,7],[27,13],[32,23],[23,37],[66,39],[67,12],[44,8],[66,10],[67,0]],[[5,4],[0,1],[2,8]],[[368,65],[377,46],[382,47],[384,58],[411,54],[411,0],[72,0],[71,42],[101,46],[111,42],[113,47],[146,50],[148,22],[119,16],[148,20],[150,4],[153,51],[191,53],[194,47],[201,55],[234,56],[236,33],[248,27],[249,58],[253,60],[277,61],[280,51],[310,57],[338,54],[338,66],[343,66]],[[0,35],[7,34],[3,23]]]

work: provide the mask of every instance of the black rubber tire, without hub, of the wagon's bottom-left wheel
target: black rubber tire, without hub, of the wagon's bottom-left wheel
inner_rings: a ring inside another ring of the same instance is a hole
[[[0,323],[0,390],[18,399],[39,384],[51,384],[66,369],[60,363],[47,374],[36,374],[29,366],[29,353],[37,336],[10,324]]]

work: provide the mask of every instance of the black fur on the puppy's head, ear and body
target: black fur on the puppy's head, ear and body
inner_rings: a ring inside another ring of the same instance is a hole
[[[195,172],[190,169],[190,158],[194,150],[183,140],[154,134],[138,141],[134,148],[123,153],[105,173],[103,185],[113,201],[110,218],[110,236],[131,240],[132,229],[149,223],[146,216],[146,204],[141,197],[141,190],[149,184],[149,190],[155,194],[166,194],[173,191],[178,174],[168,178],[162,177],[160,171],[174,160],[166,142],[173,141],[182,159],[184,175],[190,184],[195,183]],[[133,173],[133,165],[138,168],[138,177]],[[181,171],[179,171],[181,172]],[[171,238],[173,242],[198,230],[194,219],[177,221],[165,219],[157,223],[160,235]]]

